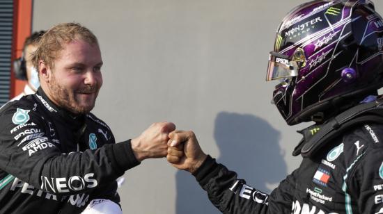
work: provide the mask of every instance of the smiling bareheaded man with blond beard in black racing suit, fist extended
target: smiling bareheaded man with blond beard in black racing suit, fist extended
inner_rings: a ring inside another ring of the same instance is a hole
[[[0,213],[120,213],[116,179],[167,154],[175,125],[115,143],[93,115],[102,85],[97,38],[76,23],[42,35],[33,53],[40,88],[0,110]]]

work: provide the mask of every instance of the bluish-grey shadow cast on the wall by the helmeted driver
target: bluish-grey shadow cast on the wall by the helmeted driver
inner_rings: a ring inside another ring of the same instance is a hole
[[[217,161],[237,172],[238,178],[245,179],[249,186],[269,193],[287,173],[279,147],[280,135],[260,117],[219,113],[214,128],[220,151]],[[189,172],[178,171],[176,182],[176,213],[220,213]]]

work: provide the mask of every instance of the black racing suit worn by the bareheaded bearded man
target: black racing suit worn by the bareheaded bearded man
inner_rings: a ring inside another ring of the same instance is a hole
[[[118,176],[139,162],[95,115],[72,115],[45,93],[0,109],[0,213],[81,213],[92,199],[119,203]]]

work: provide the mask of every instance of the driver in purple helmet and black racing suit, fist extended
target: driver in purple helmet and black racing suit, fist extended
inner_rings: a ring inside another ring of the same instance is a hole
[[[300,131],[301,165],[267,195],[205,154],[192,131],[169,134],[168,161],[191,172],[222,213],[383,213],[383,20],[372,1],[315,0],[276,32],[267,81]]]

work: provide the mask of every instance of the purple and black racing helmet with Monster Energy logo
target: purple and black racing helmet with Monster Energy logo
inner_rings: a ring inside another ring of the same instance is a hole
[[[316,0],[293,9],[276,32],[267,81],[290,125],[320,122],[383,85],[383,19],[371,1]]]

